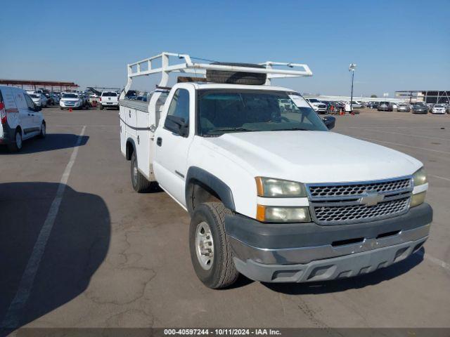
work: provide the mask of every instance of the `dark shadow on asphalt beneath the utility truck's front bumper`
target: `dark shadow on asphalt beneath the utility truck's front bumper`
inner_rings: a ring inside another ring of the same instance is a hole
[[[361,289],[366,286],[373,286],[383,281],[394,279],[406,272],[409,272],[413,267],[416,267],[423,261],[424,249],[423,247],[399,263],[394,263],[389,267],[375,270],[365,275],[356,277],[349,277],[348,279],[337,279],[324,282],[309,282],[309,283],[262,283],[266,288],[276,291],[278,293],[286,293],[288,295],[311,295],[321,293],[337,293],[349,289]]]

